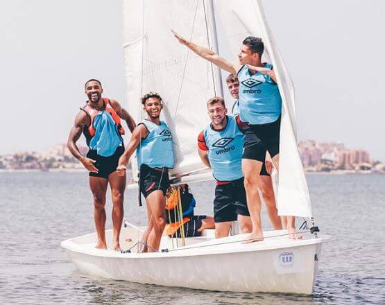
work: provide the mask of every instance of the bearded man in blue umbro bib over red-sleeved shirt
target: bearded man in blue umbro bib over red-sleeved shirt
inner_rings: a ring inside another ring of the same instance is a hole
[[[228,116],[221,97],[210,98],[207,110],[212,121],[198,135],[198,153],[212,168],[216,180],[214,198],[215,237],[228,236],[232,221],[239,220],[242,233],[252,230],[243,185],[243,131],[239,116]],[[238,217],[237,217],[238,216]]]

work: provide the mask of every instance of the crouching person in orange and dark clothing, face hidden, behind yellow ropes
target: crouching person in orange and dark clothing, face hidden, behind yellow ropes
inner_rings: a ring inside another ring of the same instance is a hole
[[[214,229],[214,218],[194,215],[196,200],[188,184],[169,189],[166,201],[166,234],[170,237],[196,237],[205,229]],[[182,228],[183,225],[183,228]]]

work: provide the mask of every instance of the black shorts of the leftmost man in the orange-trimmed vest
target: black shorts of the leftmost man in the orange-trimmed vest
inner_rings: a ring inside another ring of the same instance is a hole
[[[114,155],[110,157],[103,157],[97,154],[97,150],[89,150],[87,153],[87,158],[94,159],[96,162],[94,166],[98,168],[98,173],[89,172],[89,176],[91,177],[101,177],[108,179],[108,175],[114,173],[117,170],[119,158],[124,153],[124,147],[119,146],[117,150],[115,150]]]

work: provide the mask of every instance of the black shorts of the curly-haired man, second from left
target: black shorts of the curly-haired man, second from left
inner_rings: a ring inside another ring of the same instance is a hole
[[[166,195],[170,187],[169,171],[164,168],[163,171],[158,171],[154,168],[142,164],[139,173],[139,188],[144,198],[153,193],[153,191],[161,190],[163,195]]]

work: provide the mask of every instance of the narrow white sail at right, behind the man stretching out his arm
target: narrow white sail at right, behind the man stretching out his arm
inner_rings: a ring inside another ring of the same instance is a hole
[[[309,191],[296,141],[293,82],[268,28],[262,4],[256,0],[216,0],[214,10],[225,33],[221,39],[227,40],[234,60],[245,37],[257,36],[264,41],[264,60],[273,63],[282,96],[278,214],[311,217]]]

